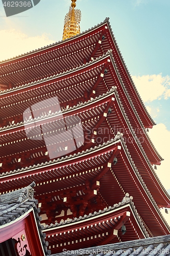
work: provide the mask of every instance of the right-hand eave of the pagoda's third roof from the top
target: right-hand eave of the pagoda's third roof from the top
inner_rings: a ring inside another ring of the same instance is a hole
[[[147,184],[148,189],[150,190],[151,194],[155,198],[155,201],[158,203],[158,205],[160,206],[166,205],[166,202],[168,202],[169,204],[170,197],[167,191],[165,190],[164,186],[162,185],[161,181],[159,180],[158,176],[156,175],[147,155],[143,150],[142,144],[137,139],[116,91],[114,93],[114,97],[115,97],[115,101],[114,101],[115,111],[117,111],[117,116],[119,113],[119,118],[121,120],[121,123],[122,122],[124,123],[123,126],[126,128],[128,132],[131,131],[130,137],[128,137],[128,135],[125,134],[123,138],[125,139],[126,144],[128,145],[129,151],[133,153],[134,158],[132,157],[132,153],[131,153],[131,157],[138,168],[139,174],[141,175],[145,184]],[[114,126],[114,124],[117,121],[117,117],[112,116],[112,114],[110,114],[108,115],[107,118],[110,125]],[[132,140],[130,140],[130,143],[129,143],[128,141],[130,138],[132,138]],[[136,155],[134,154],[134,151],[136,152]],[[138,153],[140,154],[140,157]]]

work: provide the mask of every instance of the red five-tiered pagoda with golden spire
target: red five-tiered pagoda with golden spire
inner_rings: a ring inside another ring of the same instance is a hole
[[[80,33],[71,2],[62,41],[0,63],[0,195],[36,183],[53,254],[170,232],[155,122],[109,18]]]

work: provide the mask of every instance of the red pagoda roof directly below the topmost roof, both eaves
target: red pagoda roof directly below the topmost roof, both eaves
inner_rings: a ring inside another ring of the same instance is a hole
[[[35,82],[31,82],[19,87],[15,87],[6,91],[0,92],[2,94],[2,100],[1,100],[1,108],[2,108],[2,114],[1,117],[5,118],[5,113],[8,113],[10,116],[10,122],[13,120],[16,121],[19,118],[22,118],[23,110],[27,108],[27,106],[31,103],[31,100],[33,103],[39,101],[40,99],[43,100],[44,97],[54,97],[58,96],[60,99],[60,102],[64,104],[64,108],[66,108],[66,105],[69,105],[69,102],[71,100],[70,95],[76,95],[79,98],[79,101],[82,100],[82,96],[85,92],[85,88],[87,91],[92,90],[94,87],[94,84],[96,83],[96,76],[100,75],[103,68],[104,63],[107,63],[107,61],[111,60],[114,69],[116,70],[116,64],[114,62],[112,51],[108,51],[103,56],[100,56],[99,58],[95,59],[94,61],[90,61],[89,63],[83,64],[80,67],[71,69],[69,71],[44,78]],[[100,65],[99,65],[100,64]],[[102,65],[101,65],[102,64]],[[98,65],[98,67],[96,67]],[[95,68],[94,68],[95,67]],[[88,70],[87,70],[88,68]],[[82,71],[82,72],[81,72]],[[75,77],[75,72],[77,73],[77,76]],[[129,97],[129,94],[126,91],[126,88],[124,86],[124,83],[121,80],[121,77],[119,74],[117,74],[117,78],[114,81],[114,84],[116,86],[117,83],[121,83],[121,86],[117,88],[117,92],[119,94],[120,99],[122,102],[120,104],[123,104],[124,112],[126,112],[127,117],[129,120],[131,120],[132,128],[137,131],[136,135],[139,139],[144,138],[144,141],[142,142],[142,146],[144,148],[145,153],[148,155],[148,158],[154,163],[159,163],[159,161],[163,160],[161,156],[156,151],[156,148],[154,147],[153,143],[151,142],[147,132],[145,132],[145,128],[140,120],[140,117],[133,107],[133,103],[131,98]],[[111,85],[113,85],[112,82],[112,75],[107,74],[104,76],[104,79],[107,83],[107,86],[109,86],[109,89],[111,89]],[[119,79],[119,81],[118,81]],[[82,81],[82,82],[81,82]],[[71,84],[75,83],[74,86]],[[101,94],[105,93],[106,90],[104,90],[105,86],[102,83],[102,86],[100,87]],[[56,90],[57,89],[57,90]],[[35,91],[36,90],[36,91]],[[44,94],[45,93],[45,94]],[[45,96],[46,95],[46,96]],[[48,96],[50,95],[50,96]],[[126,101],[124,99],[125,95],[127,97]],[[36,97],[35,97],[36,96]],[[94,97],[94,96],[93,96]],[[25,98],[27,98],[25,100]],[[31,100],[30,100],[31,98]],[[65,100],[64,100],[65,99]],[[65,103],[64,103],[65,101]],[[66,103],[68,102],[68,103]],[[63,106],[62,106],[63,108]],[[130,109],[132,114],[129,115]],[[64,109],[63,109],[64,111]],[[53,112],[53,111],[52,111]],[[16,116],[13,116],[15,113]],[[13,117],[12,117],[13,116]],[[133,117],[133,118],[132,118]],[[20,119],[21,120],[21,119]],[[20,121],[18,120],[18,121]],[[40,119],[39,119],[40,120]],[[137,121],[137,128],[136,128],[136,121]],[[13,121],[14,122],[14,121]],[[13,123],[10,126],[4,126],[0,127],[1,132],[5,132],[14,129],[18,126],[19,129],[22,128],[23,121],[18,123]],[[2,134],[2,133],[1,133]],[[151,148],[151,150],[150,150]]]

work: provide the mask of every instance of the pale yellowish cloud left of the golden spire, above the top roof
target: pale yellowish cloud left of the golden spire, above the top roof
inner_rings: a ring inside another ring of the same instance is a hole
[[[29,37],[15,29],[0,31],[0,60],[5,60],[23,54],[42,46],[53,44],[54,41],[48,38],[48,35]]]

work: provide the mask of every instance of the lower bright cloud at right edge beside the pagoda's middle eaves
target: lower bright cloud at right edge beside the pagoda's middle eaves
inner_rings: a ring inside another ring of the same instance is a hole
[[[163,123],[159,123],[150,129],[149,137],[151,138],[158,153],[164,159],[161,162],[161,165],[157,165],[156,174],[158,175],[165,189],[170,189],[170,183],[168,179],[170,131],[166,129],[166,126]]]

